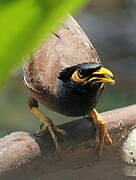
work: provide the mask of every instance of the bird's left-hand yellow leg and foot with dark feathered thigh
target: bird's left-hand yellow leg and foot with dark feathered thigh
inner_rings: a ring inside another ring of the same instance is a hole
[[[35,114],[37,117],[39,117],[42,124],[44,124],[44,126],[45,126],[45,128],[40,130],[38,133],[43,133],[48,130],[52,136],[54,143],[55,143],[57,152],[61,152],[61,148],[58,143],[58,137],[56,136],[56,133],[61,133],[63,135],[67,135],[66,131],[63,129],[58,129],[54,126],[52,120],[38,109],[38,102],[35,99],[33,99],[33,98],[30,99],[29,107],[30,107],[30,111],[33,114]]]

